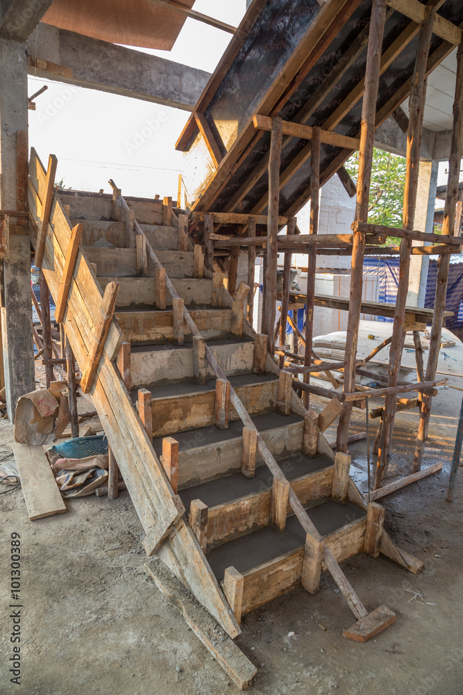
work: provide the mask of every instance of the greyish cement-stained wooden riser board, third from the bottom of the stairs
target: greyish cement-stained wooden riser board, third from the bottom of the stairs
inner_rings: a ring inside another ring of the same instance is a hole
[[[273,456],[286,457],[301,451],[303,423],[292,423],[285,427],[276,427],[274,430],[264,430],[260,434]],[[196,440],[195,435],[198,437]],[[241,470],[242,437],[207,446],[201,446],[200,437],[201,433],[192,433],[191,448],[180,451],[178,454],[179,489],[217,480]],[[255,462],[257,466],[264,465],[259,452]],[[289,471],[283,472],[289,473]]]

